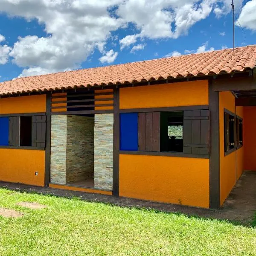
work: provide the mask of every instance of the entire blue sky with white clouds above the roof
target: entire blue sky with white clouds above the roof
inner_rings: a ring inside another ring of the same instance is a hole
[[[256,0],[234,2],[256,44]],[[231,0],[0,0],[0,81],[230,47]]]

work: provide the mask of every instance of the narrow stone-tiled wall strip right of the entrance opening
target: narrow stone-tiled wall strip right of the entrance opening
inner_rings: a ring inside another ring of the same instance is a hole
[[[94,187],[113,187],[113,114],[95,114]]]

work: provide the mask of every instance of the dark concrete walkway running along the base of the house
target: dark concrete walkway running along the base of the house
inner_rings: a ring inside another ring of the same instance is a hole
[[[164,212],[182,212],[187,215],[198,215],[204,218],[239,221],[243,224],[247,224],[248,222],[252,221],[256,212],[256,172],[244,172],[230,193],[230,196],[225,201],[223,207],[219,210],[157,203],[152,201],[122,198],[111,195],[99,195],[86,192],[76,192],[64,189],[29,186],[2,181],[0,181],[0,187],[23,192],[36,192],[44,195],[50,194],[67,198],[77,196],[82,200],[91,202],[103,202],[115,204],[121,207],[144,207]]]

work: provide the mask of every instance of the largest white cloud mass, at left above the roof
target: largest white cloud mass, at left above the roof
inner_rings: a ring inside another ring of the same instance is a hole
[[[104,43],[124,23],[109,9],[122,0],[1,0],[0,12],[36,19],[47,36],[19,37],[10,56],[27,74],[52,73],[78,68],[95,47]]]

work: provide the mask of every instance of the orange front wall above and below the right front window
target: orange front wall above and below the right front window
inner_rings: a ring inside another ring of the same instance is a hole
[[[120,88],[120,108],[208,105],[208,81]],[[119,194],[209,207],[209,159],[120,154]]]

